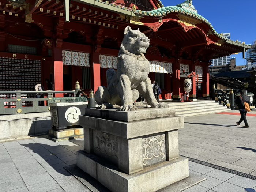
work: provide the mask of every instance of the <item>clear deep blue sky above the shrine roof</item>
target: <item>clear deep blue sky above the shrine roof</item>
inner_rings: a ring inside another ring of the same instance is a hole
[[[164,6],[177,5],[185,0],[162,0]],[[256,38],[256,0],[193,0],[199,15],[206,18],[217,33],[230,33],[231,40],[251,44]],[[242,53],[236,65],[246,65]]]

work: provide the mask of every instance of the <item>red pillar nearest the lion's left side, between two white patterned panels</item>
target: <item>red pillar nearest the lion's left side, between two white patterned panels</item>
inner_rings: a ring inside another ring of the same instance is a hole
[[[101,86],[101,68],[99,64],[99,53],[93,52],[90,59],[90,69],[91,69],[91,88],[94,93]]]

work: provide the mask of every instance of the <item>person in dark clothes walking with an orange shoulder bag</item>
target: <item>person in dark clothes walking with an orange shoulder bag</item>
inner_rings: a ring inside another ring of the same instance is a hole
[[[244,121],[245,126],[243,126],[244,128],[249,128],[247,119],[246,119],[246,113],[247,111],[245,110],[245,106],[244,106],[244,102],[248,103],[249,105],[251,104],[250,99],[248,96],[245,95],[245,90],[241,90],[240,91],[240,96],[237,96],[237,99],[235,101],[235,103],[238,105],[239,107],[239,112],[241,114],[241,118],[237,123],[237,125],[240,125],[240,123],[242,123],[242,121]]]

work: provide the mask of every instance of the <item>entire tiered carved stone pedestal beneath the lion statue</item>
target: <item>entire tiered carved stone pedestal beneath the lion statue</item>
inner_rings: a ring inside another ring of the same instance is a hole
[[[154,192],[188,177],[188,159],[178,155],[184,117],[175,109],[86,109],[84,151],[77,166],[112,192]]]

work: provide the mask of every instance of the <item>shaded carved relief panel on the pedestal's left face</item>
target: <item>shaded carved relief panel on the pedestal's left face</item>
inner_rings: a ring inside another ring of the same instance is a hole
[[[93,132],[94,153],[118,163],[118,138],[101,131]]]

